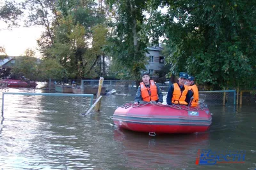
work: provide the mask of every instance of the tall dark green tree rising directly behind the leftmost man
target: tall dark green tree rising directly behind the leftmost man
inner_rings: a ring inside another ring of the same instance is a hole
[[[130,78],[140,80],[140,71],[145,69],[148,39],[140,34],[147,1],[108,1],[116,8],[115,32],[109,38],[109,53],[120,69],[127,70]],[[142,41],[143,40],[143,41]]]

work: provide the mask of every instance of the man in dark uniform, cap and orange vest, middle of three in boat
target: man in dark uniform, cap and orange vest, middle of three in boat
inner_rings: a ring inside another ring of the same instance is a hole
[[[188,86],[184,85],[188,79],[188,73],[180,72],[178,83],[173,83],[168,90],[166,97],[166,103],[172,104],[184,104],[188,105],[191,96],[191,92],[188,90]]]

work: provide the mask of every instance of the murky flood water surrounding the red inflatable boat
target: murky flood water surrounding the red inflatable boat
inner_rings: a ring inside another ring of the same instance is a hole
[[[104,96],[100,113],[87,117],[81,115],[79,106],[83,104],[74,97],[5,96],[4,118],[0,119],[0,168],[256,168],[256,106],[209,106],[212,125],[207,132],[148,136],[120,131],[111,119],[116,107],[133,101],[134,94]],[[203,166],[195,164],[198,150],[242,150],[246,155],[243,164]]]

